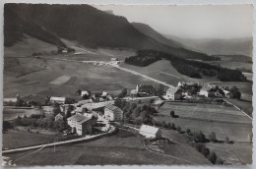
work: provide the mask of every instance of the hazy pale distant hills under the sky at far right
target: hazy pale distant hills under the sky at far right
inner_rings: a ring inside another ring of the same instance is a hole
[[[252,56],[252,37],[231,39],[190,39],[163,34],[166,38],[176,40],[184,47],[208,55],[245,55]]]

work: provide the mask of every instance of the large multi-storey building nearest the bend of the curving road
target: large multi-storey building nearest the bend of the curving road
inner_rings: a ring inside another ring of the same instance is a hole
[[[86,117],[81,114],[75,114],[67,119],[68,125],[76,131],[79,136],[91,134],[96,124],[96,117]]]

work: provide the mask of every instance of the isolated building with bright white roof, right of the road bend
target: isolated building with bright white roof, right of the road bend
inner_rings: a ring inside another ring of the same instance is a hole
[[[149,139],[161,137],[160,128],[156,128],[156,127],[148,126],[148,125],[142,125],[140,128],[139,134],[142,136],[145,136],[146,138],[149,138]]]

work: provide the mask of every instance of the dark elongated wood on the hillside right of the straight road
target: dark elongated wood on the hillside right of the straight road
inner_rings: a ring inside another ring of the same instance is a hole
[[[125,58],[125,63],[145,67],[161,59],[171,62],[171,65],[182,75],[191,78],[201,78],[201,75],[214,77],[224,82],[245,82],[245,76],[239,70],[231,70],[195,60],[187,60],[156,50],[139,50],[136,56]]]

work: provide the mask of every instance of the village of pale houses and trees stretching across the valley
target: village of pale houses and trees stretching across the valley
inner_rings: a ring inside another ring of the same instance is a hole
[[[148,100],[149,104],[155,106],[156,110],[165,101],[167,102],[224,102],[223,98],[239,98],[240,93],[235,86],[232,88],[212,86],[205,84],[200,86],[194,83],[180,82],[176,87],[169,87],[165,92],[162,88],[157,89],[149,84],[137,84],[135,89],[127,91],[123,88],[117,96],[109,94],[106,91],[94,92],[89,90],[78,89],[77,94],[81,96],[80,100],[66,97],[44,97],[41,95],[20,96],[17,98],[4,98],[5,108],[15,107],[15,109],[41,109],[43,117],[51,115],[54,122],[63,122],[64,127],[60,128],[60,132],[64,135],[86,136],[97,134],[98,132],[108,132],[113,124],[123,125],[129,120],[124,115],[117,102],[135,101],[142,103]],[[149,101],[150,100],[150,101]],[[149,106],[152,106],[149,105]],[[31,117],[34,116],[33,114]],[[16,119],[27,118],[27,115]],[[14,120],[14,119],[13,119]],[[15,121],[15,120],[14,120]],[[21,123],[17,124],[18,126]],[[156,135],[160,129],[147,130],[149,125],[141,124],[140,134],[144,134],[146,138]],[[26,124],[24,125],[26,126]],[[36,125],[34,125],[36,126]],[[149,135],[149,136],[148,136]],[[155,136],[156,137],[156,136]],[[153,137],[154,138],[154,137]]]

